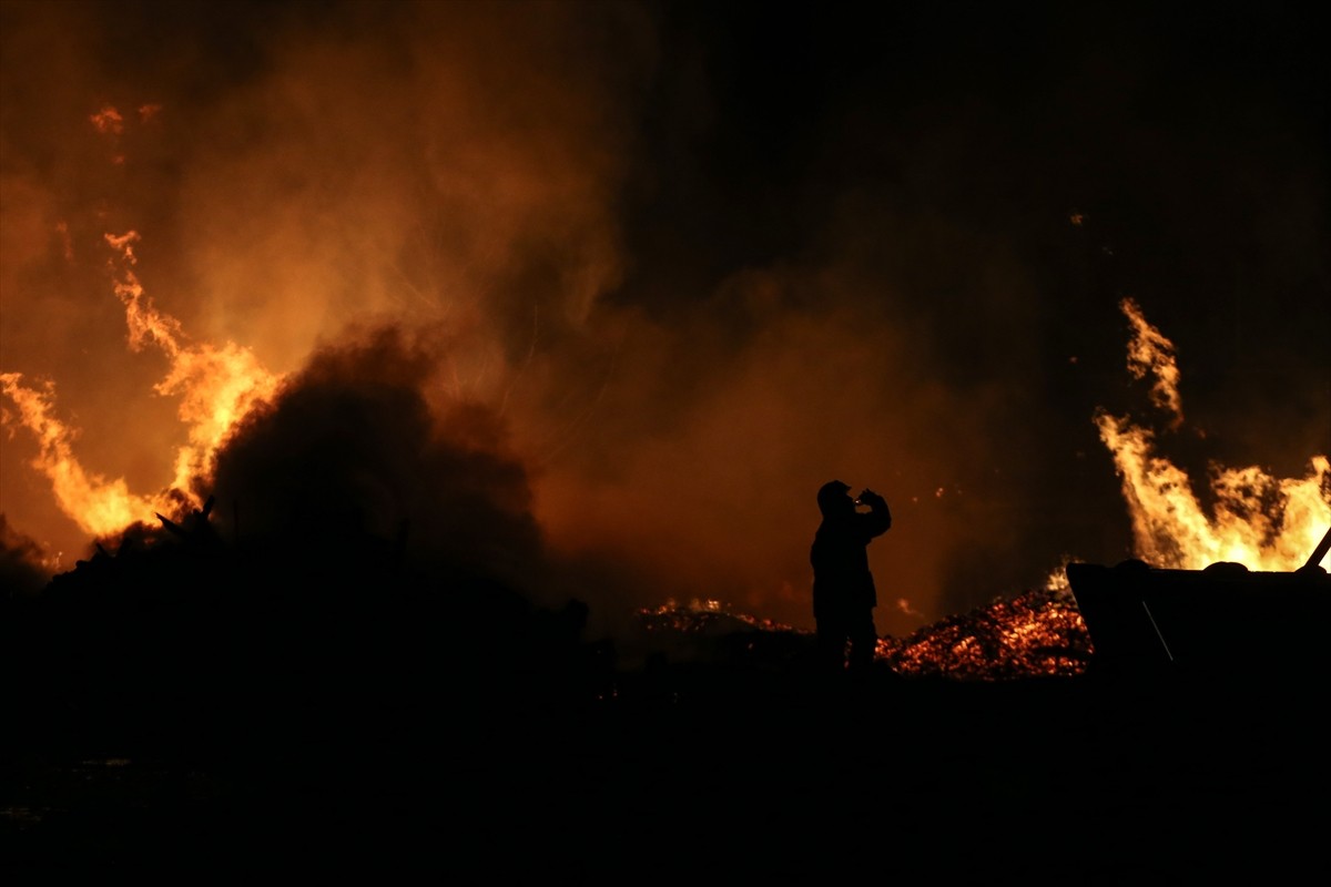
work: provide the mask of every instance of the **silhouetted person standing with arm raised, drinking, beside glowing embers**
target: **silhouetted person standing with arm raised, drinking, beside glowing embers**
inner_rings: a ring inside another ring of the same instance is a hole
[[[851,487],[832,480],[819,489],[823,523],[813,536],[813,618],[820,664],[831,672],[866,673],[878,630],[873,608],[878,593],[869,572],[868,545],[892,527],[888,503],[872,489],[851,499]],[[868,512],[856,511],[868,505]],[[849,646],[849,650],[848,650]]]

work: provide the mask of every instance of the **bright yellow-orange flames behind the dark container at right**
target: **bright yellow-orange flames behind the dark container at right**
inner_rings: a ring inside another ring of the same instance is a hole
[[[1183,419],[1174,344],[1150,326],[1131,299],[1119,303],[1133,327],[1129,368],[1154,376],[1151,399]],[[1155,453],[1154,435],[1099,410],[1099,438],[1114,456],[1133,521],[1137,556],[1157,567],[1202,569],[1218,561],[1259,570],[1302,567],[1331,527],[1331,461],[1312,456],[1303,477],[1272,477],[1260,468],[1215,465],[1214,504],[1203,507],[1187,472]],[[1323,561],[1324,564],[1326,561]]]

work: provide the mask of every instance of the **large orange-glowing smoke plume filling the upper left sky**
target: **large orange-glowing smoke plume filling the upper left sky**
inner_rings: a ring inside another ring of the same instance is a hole
[[[109,233],[138,231],[132,283],[177,334],[280,375],[349,323],[447,324],[438,384],[494,404],[515,355],[619,278],[614,108],[650,64],[640,12],[186,5],[4,9],[5,368],[56,383],[92,476],[166,485],[192,394],[114,332],[137,342],[106,299]],[[11,431],[5,481],[40,455]],[[49,497],[5,485],[24,515]],[[87,545],[47,511],[48,547]]]

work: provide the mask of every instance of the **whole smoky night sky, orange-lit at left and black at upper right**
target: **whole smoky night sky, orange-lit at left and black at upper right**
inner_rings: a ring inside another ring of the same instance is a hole
[[[808,624],[813,492],[877,488],[884,633],[1130,553],[1091,422],[1154,420],[1122,297],[1178,348],[1167,457],[1331,452],[1302,7],[865,7],[5,0],[0,372],[55,382],[89,469],[169,480],[101,239],[134,229],[157,306],[276,372],[445,330],[426,399],[502,418],[603,609]],[[68,565],[33,453],[9,423],[0,511]]]

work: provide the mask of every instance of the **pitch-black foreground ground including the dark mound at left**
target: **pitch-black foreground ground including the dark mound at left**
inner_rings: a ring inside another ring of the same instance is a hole
[[[381,540],[205,529],[4,598],[7,883],[1323,866],[1326,668],[828,685],[797,634],[630,656],[576,600],[409,570]]]

